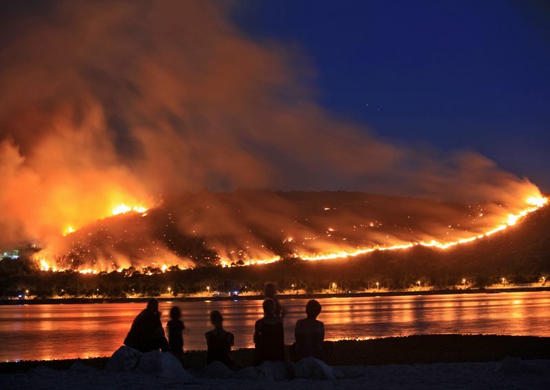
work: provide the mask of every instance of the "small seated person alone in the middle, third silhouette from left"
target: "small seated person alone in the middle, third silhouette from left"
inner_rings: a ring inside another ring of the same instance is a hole
[[[208,346],[206,363],[219,360],[230,369],[236,369],[237,364],[231,352],[234,337],[232,333],[226,332],[223,329],[223,317],[221,317],[221,313],[218,310],[210,312],[210,322],[214,325],[214,329],[204,334],[206,345]]]

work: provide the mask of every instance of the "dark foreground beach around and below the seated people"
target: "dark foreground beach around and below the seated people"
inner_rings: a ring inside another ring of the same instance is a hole
[[[237,349],[243,366],[252,349]],[[337,341],[329,364],[331,380],[292,379],[279,382],[220,378],[205,372],[206,352],[185,354],[195,380],[184,382],[135,373],[110,373],[109,358],[0,363],[0,388],[278,388],[348,389],[545,389],[550,384],[550,338],[496,335],[418,335],[364,341]],[[186,386],[187,387],[187,386]]]

